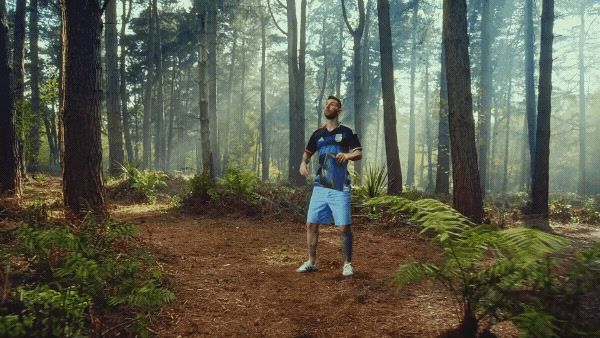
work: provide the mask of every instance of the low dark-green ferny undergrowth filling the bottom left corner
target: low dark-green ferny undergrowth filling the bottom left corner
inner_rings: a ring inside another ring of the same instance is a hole
[[[90,313],[144,314],[173,300],[156,263],[131,250],[134,236],[127,223],[21,225],[6,255],[27,263],[13,268],[27,284],[0,307],[0,336],[82,336]]]

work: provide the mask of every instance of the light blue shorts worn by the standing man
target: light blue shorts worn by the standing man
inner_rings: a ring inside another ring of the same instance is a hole
[[[308,205],[307,223],[351,225],[350,191],[314,186]]]

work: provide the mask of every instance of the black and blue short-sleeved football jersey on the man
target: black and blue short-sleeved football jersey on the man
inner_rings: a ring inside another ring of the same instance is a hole
[[[335,160],[337,153],[348,153],[361,149],[358,136],[352,129],[338,125],[329,131],[326,127],[317,129],[308,140],[305,152],[309,155],[317,153],[319,169],[315,185],[343,191],[350,188],[348,162],[339,164]]]

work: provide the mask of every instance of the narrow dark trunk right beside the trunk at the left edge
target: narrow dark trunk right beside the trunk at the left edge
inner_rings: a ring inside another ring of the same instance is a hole
[[[15,8],[15,35],[13,39],[13,89],[15,97],[15,128],[17,137],[17,160],[21,177],[26,176],[23,153],[23,105],[25,103],[25,7],[26,0],[17,0]],[[6,40],[8,41],[8,40]]]

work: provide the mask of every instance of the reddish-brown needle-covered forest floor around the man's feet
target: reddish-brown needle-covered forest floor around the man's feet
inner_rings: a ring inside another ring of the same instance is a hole
[[[56,206],[60,191],[59,179],[47,178],[28,184],[25,195]],[[333,227],[321,228],[319,270],[301,274],[295,269],[306,259],[302,223],[189,215],[161,202],[109,201],[109,208],[113,218],[139,226],[177,295],[151,323],[158,336],[438,337],[458,325],[457,304],[445,290],[428,282],[394,286],[399,264],[440,257],[408,226],[355,218],[355,274],[344,278]],[[492,332],[518,336],[508,322]]]

